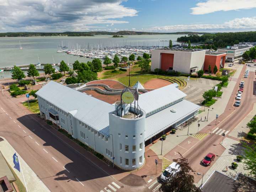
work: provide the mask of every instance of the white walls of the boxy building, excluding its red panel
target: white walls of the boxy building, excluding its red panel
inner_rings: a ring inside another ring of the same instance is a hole
[[[151,51],[151,71],[161,69],[161,53],[174,54],[173,70],[181,73],[190,73],[191,68],[203,69],[204,49],[153,49]]]

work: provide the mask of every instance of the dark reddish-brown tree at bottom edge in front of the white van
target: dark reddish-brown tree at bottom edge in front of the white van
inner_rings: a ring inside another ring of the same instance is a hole
[[[179,153],[180,154],[180,153]],[[177,171],[179,169],[179,171]],[[176,174],[170,174],[170,177],[162,183],[159,191],[163,192],[199,192],[200,189],[194,185],[195,171],[188,164],[188,160],[185,159],[181,154],[178,158],[177,165],[175,169],[171,170],[176,172]]]

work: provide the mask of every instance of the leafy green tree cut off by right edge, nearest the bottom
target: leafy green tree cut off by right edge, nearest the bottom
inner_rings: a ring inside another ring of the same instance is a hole
[[[245,169],[250,171],[250,174],[256,177],[256,144],[251,146],[244,144],[245,155],[244,155],[244,164]]]

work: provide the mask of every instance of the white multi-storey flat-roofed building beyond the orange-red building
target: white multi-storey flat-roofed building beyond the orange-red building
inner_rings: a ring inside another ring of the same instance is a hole
[[[253,46],[227,46],[226,48],[217,49],[218,53],[226,53],[226,61],[234,62],[236,60],[242,59],[242,54],[252,48]]]

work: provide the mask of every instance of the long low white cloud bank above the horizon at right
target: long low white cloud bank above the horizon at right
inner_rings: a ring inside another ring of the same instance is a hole
[[[256,17],[235,18],[222,24],[198,24],[198,25],[169,25],[152,28],[143,28],[138,31],[174,32],[174,31],[204,31],[204,30],[256,30]]]

